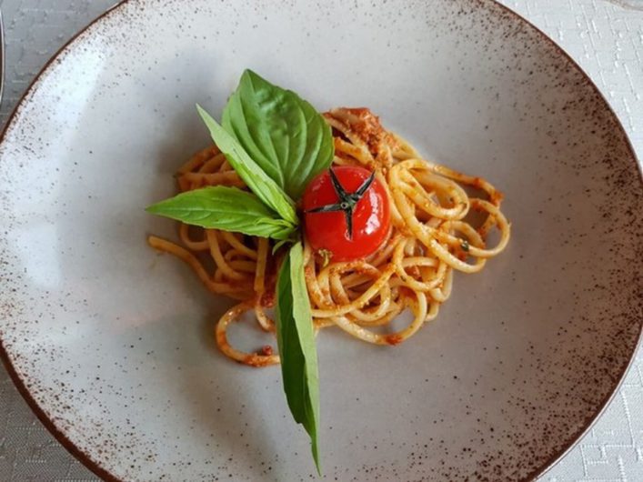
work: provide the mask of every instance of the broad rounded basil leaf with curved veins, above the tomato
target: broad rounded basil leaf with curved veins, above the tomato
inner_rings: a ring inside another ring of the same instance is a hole
[[[315,107],[251,70],[228,100],[222,124],[293,199],[333,161],[330,126]]]

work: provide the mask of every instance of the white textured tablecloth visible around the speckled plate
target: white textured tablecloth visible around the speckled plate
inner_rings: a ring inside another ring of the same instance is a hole
[[[231,0],[232,1],[232,0]],[[447,1],[447,0],[445,0]],[[629,0],[631,1],[631,0]],[[643,0],[638,0],[643,1]],[[0,1],[4,126],[47,59],[114,0]],[[554,38],[608,98],[643,158],[643,12],[606,0],[502,0]],[[1,287],[0,287],[1,289]],[[31,413],[0,368],[0,481],[97,480]],[[598,423],[542,481],[643,482],[643,353]]]

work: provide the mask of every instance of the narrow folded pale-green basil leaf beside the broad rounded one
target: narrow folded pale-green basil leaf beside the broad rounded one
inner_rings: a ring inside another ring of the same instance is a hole
[[[210,131],[212,140],[221,152],[226,156],[227,161],[234,167],[236,174],[241,177],[246,186],[261,199],[266,206],[276,211],[286,221],[297,225],[299,220],[296,216],[295,203],[286,193],[277,186],[275,181],[266,175],[261,167],[247,155],[242,146],[230,136],[226,130],[219,126],[211,115],[200,105],[196,105],[199,115],[203,118]]]

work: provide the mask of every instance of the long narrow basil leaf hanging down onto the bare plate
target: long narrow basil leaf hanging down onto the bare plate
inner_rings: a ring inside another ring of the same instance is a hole
[[[301,242],[290,248],[277,279],[276,342],[288,407],[310,436],[317,472],[319,449],[319,376],[313,318],[304,277]]]

